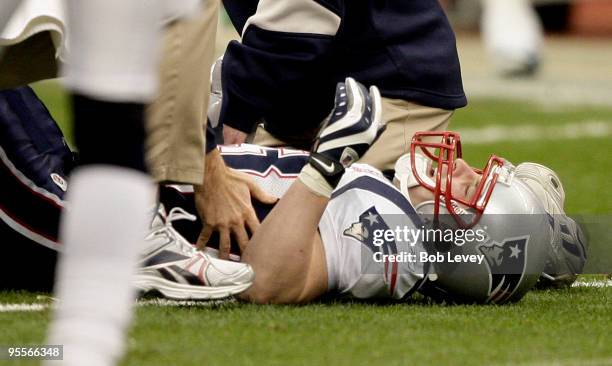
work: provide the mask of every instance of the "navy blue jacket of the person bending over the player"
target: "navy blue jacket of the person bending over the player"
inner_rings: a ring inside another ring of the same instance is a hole
[[[335,84],[352,76],[383,96],[466,105],[454,33],[438,0],[224,0],[242,43],[223,61],[221,122],[279,137],[316,129]],[[259,7],[257,7],[259,5]]]

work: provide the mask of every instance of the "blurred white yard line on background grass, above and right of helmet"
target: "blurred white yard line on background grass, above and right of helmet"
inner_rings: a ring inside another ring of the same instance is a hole
[[[463,128],[459,129],[459,132],[461,139],[467,144],[604,138],[612,135],[612,121],[587,120],[562,125],[488,125],[480,128]]]

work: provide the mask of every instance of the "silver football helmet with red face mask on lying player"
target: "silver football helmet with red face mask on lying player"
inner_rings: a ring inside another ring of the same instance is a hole
[[[433,138],[440,140],[425,141]],[[409,161],[409,169],[396,175],[404,187],[419,184],[434,194],[433,200],[415,207],[426,228],[476,233],[462,243],[425,243],[430,254],[460,260],[434,263],[429,278],[435,281],[426,283],[422,292],[452,302],[517,301],[544,269],[552,237],[548,215],[529,186],[516,178],[515,167],[495,155],[484,169],[474,169],[482,179],[473,197],[455,197],[452,172],[461,156],[459,134],[419,132],[413,137],[410,157],[403,160]],[[461,260],[470,255],[480,261]]]

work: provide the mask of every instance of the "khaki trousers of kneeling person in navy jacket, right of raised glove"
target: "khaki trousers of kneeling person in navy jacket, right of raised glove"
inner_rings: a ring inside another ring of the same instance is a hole
[[[382,108],[387,129],[359,160],[381,171],[393,169],[395,161],[410,150],[415,132],[446,130],[454,112],[389,98],[382,98]]]

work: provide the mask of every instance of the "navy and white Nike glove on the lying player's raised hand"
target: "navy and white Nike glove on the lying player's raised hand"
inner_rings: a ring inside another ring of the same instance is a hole
[[[336,88],[334,109],[321,128],[309,163],[333,186],[383,132],[381,96],[347,78]]]

